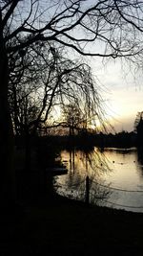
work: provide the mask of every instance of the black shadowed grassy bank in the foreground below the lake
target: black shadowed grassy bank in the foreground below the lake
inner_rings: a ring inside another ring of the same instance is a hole
[[[143,255],[142,214],[62,197],[12,214],[1,217],[0,255]]]

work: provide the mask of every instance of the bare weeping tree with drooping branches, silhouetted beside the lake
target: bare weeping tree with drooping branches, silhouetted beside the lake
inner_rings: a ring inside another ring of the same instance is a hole
[[[51,48],[44,43],[43,48],[40,52],[36,48],[35,69],[26,61],[25,66],[10,74],[10,112],[15,133],[22,134],[24,128],[35,132],[40,124],[47,123],[56,106],[66,113],[67,105],[76,105],[76,112],[78,109],[83,113],[80,121],[89,125],[95,119],[103,119],[102,98],[91,67],[77,58],[66,58],[63,47]],[[31,59],[29,55],[26,53],[25,58]]]

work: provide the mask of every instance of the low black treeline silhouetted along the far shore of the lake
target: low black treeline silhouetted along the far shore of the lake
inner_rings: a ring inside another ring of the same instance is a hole
[[[23,147],[24,139],[15,138],[17,148]],[[51,147],[52,146],[52,147]],[[99,148],[131,148],[137,147],[137,134],[135,132],[121,131],[112,133],[90,133],[86,132],[78,135],[45,135],[31,138],[31,149],[36,150],[41,155],[47,153],[55,155],[57,151],[71,150],[72,147],[81,150],[92,150],[93,147]],[[54,152],[54,153],[53,153]],[[42,157],[43,158],[43,157]],[[51,157],[52,159],[53,157]]]

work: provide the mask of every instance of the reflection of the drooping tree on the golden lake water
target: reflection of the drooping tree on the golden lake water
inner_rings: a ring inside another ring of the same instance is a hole
[[[108,198],[111,193],[108,186],[104,187],[102,174],[110,172],[108,159],[97,149],[93,151],[62,151],[61,157],[67,168],[68,175],[56,178],[57,192],[70,198],[99,202],[99,198]],[[89,181],[87,181],[89,180]]]

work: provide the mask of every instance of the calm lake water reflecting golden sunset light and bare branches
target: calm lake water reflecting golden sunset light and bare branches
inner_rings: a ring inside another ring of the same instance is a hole
[[[91,203],[143,212],[143,159],[136,149],[62,151],[61,157],[69,172],[55,178],[59,194],[85,200],[89,176]]]

